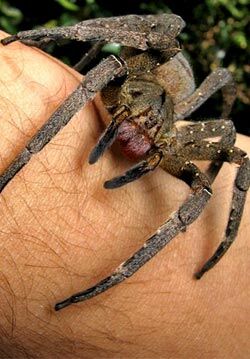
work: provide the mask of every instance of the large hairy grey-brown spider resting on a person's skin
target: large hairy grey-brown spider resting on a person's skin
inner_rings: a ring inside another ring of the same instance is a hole
[[[234,146],[235,129],[228,119],[236,95],[235,84],[226,69],[218,68],[195,89],[192,70],[176,41],[184,25],[174,14],[129,15],[23,31],[2,40],[4,45],[20,40],[35,46],[65,38],[94,42],[77,64],[78,69],[90,62],[104,43],[117,42],[123,48],[119,58],[111,55],[86,74],[1,175],[1,190],[98,91],[112,120],[92,150],[89,163],[95,163],[115,139],[120,141],[124,154],[138,160],[125,174],[105,182],[104,187],[123,186],[160,166],[185,181],[192,190],[183,205],[131,258],[93,287],[57,303],[56,310],[92,298],[122,282],[185,230],[211,197],[211,183],[223,162],[239,166],[229,220],[223,242],[195,274],[197,279],[220,260],[237,235],[250,184],[250,164],[246,153]],[[218,90],[223,96],[220,119],[176,126],[177,121],[189,117]],[[193,160],[211,161],[207,172],[202,173]]]

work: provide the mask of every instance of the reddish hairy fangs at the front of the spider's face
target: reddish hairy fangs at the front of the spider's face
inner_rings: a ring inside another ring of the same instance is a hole
[[[122,153],[133,160],[145,156],[152,146],[149,136],[136,123],[127,120],[119,127],[117,140]]]

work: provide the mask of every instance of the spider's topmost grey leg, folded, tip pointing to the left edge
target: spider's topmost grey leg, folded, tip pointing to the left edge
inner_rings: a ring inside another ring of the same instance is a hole
[[[77,41],[117,42],[141,50],[166,50],[175,43],[185,22],[174,14],[127,15],[85,20],[76,25],[21,31],[1,42],[7,45],[17,40],[71,39]],[[173,47],[173,46],[172,46]]]

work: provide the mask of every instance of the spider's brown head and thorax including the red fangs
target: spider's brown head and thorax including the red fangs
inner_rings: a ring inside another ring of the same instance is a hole
[[[128,76],[124,83],[111,83],[102,91],[102,99],[117,126],[122,152],[141,159],[155,149],[161,134],[173,124],[173,102],[154,74],[160,65],[158,52],[130,54],[126,51]]]

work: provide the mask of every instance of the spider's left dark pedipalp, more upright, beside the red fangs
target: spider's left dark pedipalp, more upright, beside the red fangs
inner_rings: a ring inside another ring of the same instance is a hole
[[[126,106],[122,105],[121,107],[118,108],[118,110],[113,115],[112,121],[106,127],[105,131],[99,138],[97,144],[91,151],[89,155],[90,164],[95,163],[101,157],[103,152],[112,145],[112,143],[114,142],[117,136],[117,132],[120,124],[122,123],[123,120],[128,118],[128,116],[129,116],[129,110],[127,109]]]

